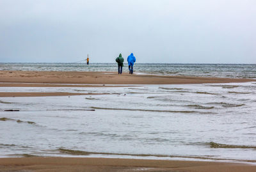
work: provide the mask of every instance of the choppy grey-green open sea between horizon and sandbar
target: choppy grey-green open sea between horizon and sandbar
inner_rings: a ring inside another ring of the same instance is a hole
[[[116,72],[116,63],[0,63],[0,70]],[[127,63],[124,72],[128,72]],[[256,64],[135,63],[135,74],[189,75],[200,77],[256,78]]]

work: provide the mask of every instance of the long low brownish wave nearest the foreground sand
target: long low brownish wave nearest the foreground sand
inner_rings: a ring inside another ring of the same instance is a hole
[[[236,161],[244,161],[244,162],[256,162],[256,160],[241,160],[241,159],[221,159],[215,158],[213,156],[205,155],[205,156],[195,156],[195,155],[161,155],[161,154],[144,154],[144,153],[108,153],[108,152],[86,152],[81,150],[70,150],[65,148],[59,148],[57,150],[60,153],[65,153],[69,155],[123,155],[123,156],[134,156],[134,157],[170,157],[170,158],[186,158],[186,159],[209,159],[209,160],[236,160]],[[55,152],[55,150],[54,150]]]

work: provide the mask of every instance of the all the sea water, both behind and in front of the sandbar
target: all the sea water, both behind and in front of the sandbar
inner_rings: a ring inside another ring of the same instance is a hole
[[[117,66],[115,63],[0,63],[0,70],[116,72]],[[127,71],[126,65],[124,72]],[[256,65],[138,63],[134,65],[134,74],[255,79]],[[0,87],[0,92],[103,93],[0,97],[0,157],[256,164],[256,81],[106,86]]]

